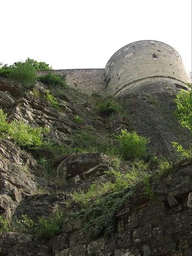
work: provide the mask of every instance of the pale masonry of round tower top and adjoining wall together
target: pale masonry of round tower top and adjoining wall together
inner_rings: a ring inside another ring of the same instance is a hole
[[[47,72],[38,71],[38,74]],[[59,69],[51,72],[65,75],[68,85],[87,94],[114,97],[142,91],[145,84],[167,82],[187,89],[189,82],[179,53],[166,43],[152,40],[122,47],[109,59],[105,69]],[[160,89],[163,90],[162,87]]]

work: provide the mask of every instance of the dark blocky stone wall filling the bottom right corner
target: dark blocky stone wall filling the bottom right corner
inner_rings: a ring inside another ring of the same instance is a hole
[[[79,219],[64,224],[53,241],[55,256],[189,256],[192,253],[191,166],[153,184],[154,201],[136,190],[116,215],[116,232],[93,240]]]

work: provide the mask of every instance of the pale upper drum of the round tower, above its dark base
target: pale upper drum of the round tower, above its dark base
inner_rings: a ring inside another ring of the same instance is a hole
[[[105,74],[107,94],[114,97],[167,86],[187,89],[189,82],[179,53],[166,43],[151,40],[130,43],[116,51],[106,64]]]

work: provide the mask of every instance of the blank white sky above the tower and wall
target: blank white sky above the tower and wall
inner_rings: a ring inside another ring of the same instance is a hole
[[[1,0],[0,62],[104,68],[121,47],[157,40],[192,70],[191,0]]]

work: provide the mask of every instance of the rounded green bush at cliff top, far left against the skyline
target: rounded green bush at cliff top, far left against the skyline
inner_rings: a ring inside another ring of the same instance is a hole
[[[17,66],[11,66],[8,78],[20,82],[25,88],[29,88],[37,81],[35,68],[28,62],[20,62]]]

